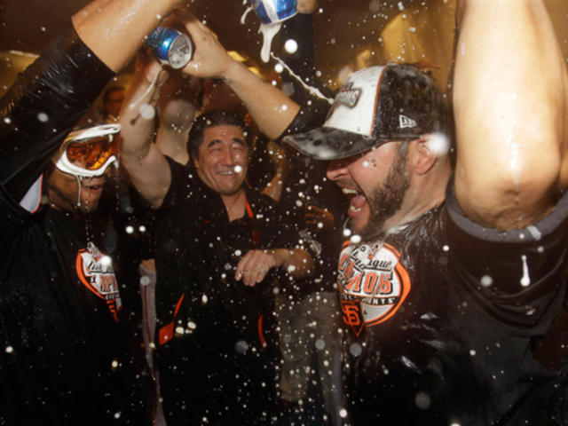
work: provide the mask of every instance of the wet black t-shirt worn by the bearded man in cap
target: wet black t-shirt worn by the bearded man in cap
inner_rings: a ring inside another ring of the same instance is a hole
[[[564,299],[567,212],[564,196],[535,225],[487,229],[449,185],[438,209],[346,245],[338,286],[352,424],[540,424],[565,389],[530,345]]]

